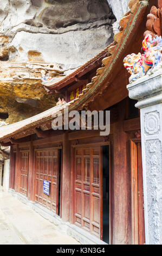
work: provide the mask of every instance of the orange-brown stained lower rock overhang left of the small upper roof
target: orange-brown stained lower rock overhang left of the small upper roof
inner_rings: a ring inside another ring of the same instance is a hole
[[[47,94],[41,72],[62,77],[55,63],[0,61],[0,120],[15,123],[54,107],[57,95]],[[7,113],[7,119],[2,117]]]

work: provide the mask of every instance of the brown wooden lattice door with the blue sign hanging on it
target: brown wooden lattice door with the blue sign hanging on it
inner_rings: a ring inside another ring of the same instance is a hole
[[[58,214],[59,200],[59,151],[44,149],[35,151],[36,190],[35,200]],[[49,196],[43,193],[43,180],[50,182]]]

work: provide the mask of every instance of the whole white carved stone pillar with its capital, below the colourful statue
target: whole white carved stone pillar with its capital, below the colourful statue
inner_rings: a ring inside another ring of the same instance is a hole
[[[140,108],[146,244],[162,244],[162,69],[127,89]]]

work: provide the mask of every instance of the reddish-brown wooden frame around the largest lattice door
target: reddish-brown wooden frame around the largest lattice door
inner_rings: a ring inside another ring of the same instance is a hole
[[[109,146],[109,244],[111,244],[111,239],[112,239],[112,224],[111,224],[111,204],[112,204],[112,197],[111,197],[111,189],[112,189],[112,186],[111,186],[111,142],[108,140],[106,142],[97,142],[97,143],[87,143],[87,144],[71,144],[71,177],[70,177],[70,180],[71,180],[71,184],[70,184],[70,194],[71,194],[71,197],[70,197],[70,223],[74,224],[74,209],[75,209],[75,206],[74,206],[74,186],[75,186],[75,175],[74,175],[74,172],[75,172],[75,148],[82,148],[82,147],[97,147],[97,146]],[[102,160],[102,157],[103,155],[101,155],[101,160]],[[100,174],[102,174],[102,180],[103,180],[103,172],[102,172],[102,169],[103,168],[100,168]],[[100,192],[102,191],[103,189],[103,182],[102,182],[102,187],[100,187]],[[103,200],[103,198],[102,198]],[[101,200],[101,205],[103,204]],[[100,219],[103,220],[103,214],[102,214],[102,218],[100,217]],[[103,236],[103,229],[101,230],[102,231],[102,236]],[[88,231],[87,231],[88,232]],[[101,233],[100,233],[100,238],[101,238]]]

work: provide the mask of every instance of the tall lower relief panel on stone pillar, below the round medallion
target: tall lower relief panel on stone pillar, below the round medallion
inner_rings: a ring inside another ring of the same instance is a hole
[[[146,141],[145,150],[149,242],[160,244],[161,142],[159,139]]]

